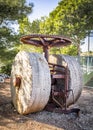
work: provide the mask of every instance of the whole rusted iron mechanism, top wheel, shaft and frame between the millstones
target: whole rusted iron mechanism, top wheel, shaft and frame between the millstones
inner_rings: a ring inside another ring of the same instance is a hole
[[[42,47],[44,56],[48,62],[51,73],[51,94],[45,109],[61,113],[75,112],[79,114],[79,108],[68,109],[68,106],[73,104],[78,98],[77,96],[75,99],[74,91],[69,87],[70,70],[68,68],[68,63],[64,60],[63,62],[65,63],[60,64],[60,56],[59,58],[57,57],[59,61],[57,60],[57,62],[53,62],[52,60],[51,62],[51,56],[49,55],[50,48],[70,45],[71,40],[57,35],[32,34],[23,36],[21,38],[21,42],[24,44],[31,44],[36,47]],[[54,57],[56,56],[54,55]],[[68,101],[69,96],[71,98],[71,103]]]

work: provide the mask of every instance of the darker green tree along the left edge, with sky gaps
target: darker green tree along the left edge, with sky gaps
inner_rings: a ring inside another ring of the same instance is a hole
[[[17,53],[19,35],[13,26],[32,12],[33,4],[26,0],[0,0],[0,60],[9,64]]]

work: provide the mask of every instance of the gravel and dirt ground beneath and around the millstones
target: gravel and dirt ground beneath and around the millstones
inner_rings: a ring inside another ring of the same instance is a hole
[[[73,107],[80,108],[79,117],[45,110],[19,115],[11,103],[9,82],[0,84],[0,130],[93,130],[93,88],[84,87]]]

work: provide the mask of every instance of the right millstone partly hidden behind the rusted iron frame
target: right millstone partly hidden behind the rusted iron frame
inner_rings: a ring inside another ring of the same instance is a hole
[[[67,55],[50,55],[49,62],[63,66],[68,65],[69,70],[68,89],[73,90],[74,100],[73,100],[73,94],[70,91],[69,96],[67,98],[67,106],[75,103],[80,97],[82,91],[82,73],[79,62],[76,60],[76,58]],[[60,82],[60,80],[58,80],[57,82],[59,82],[59,86],[62,86],[63,81]]]

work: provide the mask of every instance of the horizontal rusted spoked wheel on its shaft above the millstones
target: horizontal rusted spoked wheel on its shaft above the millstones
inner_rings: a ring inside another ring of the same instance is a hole
[[[45,58],[48,61],[49,49],[51,47],[61,47],[71,44],[71,40],[64,36],[57,35],[43,35],[43,34],[31,34],[23,36],[20,39],[24,44],[31,44],[36,47],[43,47],[43,52],[45,53]]]

